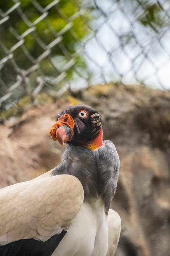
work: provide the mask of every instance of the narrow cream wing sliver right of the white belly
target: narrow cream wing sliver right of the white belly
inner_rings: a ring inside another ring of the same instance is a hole
[[[109,209],[107,216],[108,225],[108,252],[106,256],[114,256],[121,231],[121,218],[117,212]]]

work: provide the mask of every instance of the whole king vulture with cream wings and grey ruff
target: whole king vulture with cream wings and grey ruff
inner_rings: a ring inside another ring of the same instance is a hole
[[[0,189],[1,256],[113,256],[121,219],[109,209],[120,161],[103,141],[101,115],[87,105],[58,113],[50,136],[68,146],[62,162]]]

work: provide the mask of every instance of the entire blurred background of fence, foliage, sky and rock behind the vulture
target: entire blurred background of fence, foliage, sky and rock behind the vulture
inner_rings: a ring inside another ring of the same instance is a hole
[[[0,1],[0,187],[54,168],[64,107],[102,114],[119,153],[116,256],[170,256],[170,1]]]

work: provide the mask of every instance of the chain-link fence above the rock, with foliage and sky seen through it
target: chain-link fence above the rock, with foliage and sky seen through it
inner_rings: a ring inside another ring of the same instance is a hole
[[[170,1],[0,1],[0,110],[121,82],[170,88]]]

